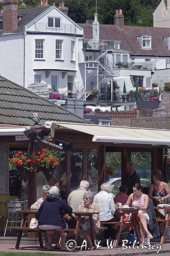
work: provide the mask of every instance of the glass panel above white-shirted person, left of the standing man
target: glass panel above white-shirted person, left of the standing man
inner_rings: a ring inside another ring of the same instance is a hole
[[[121,164],[121,152],[106,152],[106,182],[113,185],[114,195],[121,184]]]

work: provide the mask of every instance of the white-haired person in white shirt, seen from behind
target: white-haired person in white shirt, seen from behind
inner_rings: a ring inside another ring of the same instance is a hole
[[[113,187],[109,183],[103,183],[101,185],[101,191],[94,196],[94,202],[99,204],[100,208],[100,221],[112,222],[114,221],[114,200],[112,196]],[[115,239],[115,230],[112,229],[111,225],[106,225],[105,230],[106,239]]]

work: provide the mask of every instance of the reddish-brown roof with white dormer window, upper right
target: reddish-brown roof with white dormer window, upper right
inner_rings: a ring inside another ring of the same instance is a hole
[[[92,38],[92,25],[79,24],[84,29],[84,38]],[[141,49],[136,36],[149,35],[152,38],[152,49]],[[100,25],[101,40],[118,40],[120,48],[129,51],[131,55],[138,56],[164,56],[170,57],[163,37],[170,36],[170,28],[124,26],[119,28],[115,25]]]

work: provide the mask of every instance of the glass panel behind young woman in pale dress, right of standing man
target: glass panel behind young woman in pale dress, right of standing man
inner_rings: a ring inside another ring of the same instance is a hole
[[[140,183],[143,187],[149,187],[151,184],[151,152],[131,152],[130,159],[135,164]]]

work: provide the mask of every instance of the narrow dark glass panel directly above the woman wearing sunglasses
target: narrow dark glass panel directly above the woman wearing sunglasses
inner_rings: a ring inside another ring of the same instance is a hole
[[[99,180],[99,151],[87,150],[87,180],[90,184],[89,189],[94,193],[98,193]]]

